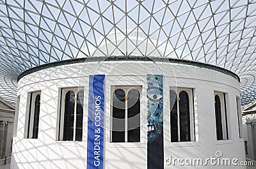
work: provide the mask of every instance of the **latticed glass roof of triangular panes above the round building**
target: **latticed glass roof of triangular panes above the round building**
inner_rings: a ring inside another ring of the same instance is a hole
[[[256,1],[0,0],[0,96],[49,62],[109,55],[172,57],[220,66],[255,100]]]

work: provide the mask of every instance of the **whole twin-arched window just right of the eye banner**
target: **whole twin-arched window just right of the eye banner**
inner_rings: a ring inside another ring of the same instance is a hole
[[[170,90],[171,142],[191,142],[195,140],[193,90],[176,89],[175,91]],[[189,101],[189,98],[192,101]]]

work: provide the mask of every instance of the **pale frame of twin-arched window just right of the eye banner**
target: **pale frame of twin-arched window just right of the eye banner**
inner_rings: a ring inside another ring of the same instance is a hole
[[[193,88],[187,88],[187,87],[170,87],[169,89],[169,94],[170,91],[174,91],[176,93],[176,99],[179,98],[179,94],[182,91],[186,91],[188,93],[188,98],[189,98],[189,126],[190,126],[190,141],[188,142],[181,142],[180,141],[180,121],[179,121],[179,106],[177,102],[177,127],[178,127],[178,141],[177,142],[172,142],[171,138],[172,138],[172,122],[171,122],[171,108],[169,108],[170,111],[170,143],[191,143],[191,142],[196,142],[196,133],[195,133],[195,94],[194,91],[195,89]],[[169,105],[170,105],[170,97],[169,96]],[[176,100],[177,101],[177,100]]]

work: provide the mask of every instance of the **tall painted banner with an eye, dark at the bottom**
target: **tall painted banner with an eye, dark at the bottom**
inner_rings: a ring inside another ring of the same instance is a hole
[[[147,75],[147,168],[164,168],[163,75]]]

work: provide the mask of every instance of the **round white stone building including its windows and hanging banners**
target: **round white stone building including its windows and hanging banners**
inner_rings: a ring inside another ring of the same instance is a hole
[[[180,168],[170,156],[244,161],[237,76],[154,59],[98,57],[25,72],[11,168]],[[92,75],[104,80],[92,83]]]

